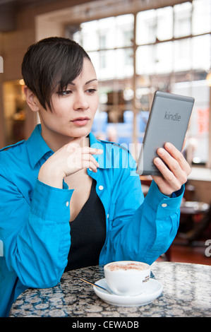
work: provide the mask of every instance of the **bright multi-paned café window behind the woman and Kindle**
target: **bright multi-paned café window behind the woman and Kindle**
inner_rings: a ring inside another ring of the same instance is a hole
[[[86,49],[100,81],[93,131],[106,137],[112,124],[119,143],[141,143],[155,90],[190,95],[192,160],[206,163],[210,17],[211,1],[193,0],[83,22],[73,35],[67,33]]]

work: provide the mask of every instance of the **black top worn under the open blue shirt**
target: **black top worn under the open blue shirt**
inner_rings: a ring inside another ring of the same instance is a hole
[[[71,248],[65,271],[99,264],[100,251],[106,238],[104,206],[92,180],[90,197],[75,220],[71,221]]]

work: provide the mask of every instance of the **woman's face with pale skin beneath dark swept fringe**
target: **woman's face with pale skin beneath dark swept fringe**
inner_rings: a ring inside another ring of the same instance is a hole
[[[83,61],[83,71],[66,90],[55,90],[52,111],[40,105],[42,136],[46,141],[55,138],[85,137],[92,128],[98,107],[97,76],[89,59]]]

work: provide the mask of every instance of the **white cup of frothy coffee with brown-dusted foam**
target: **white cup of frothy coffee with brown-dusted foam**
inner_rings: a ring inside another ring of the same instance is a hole
[[[116,261],[104,266],[104,276],[116,295],[135,296],[150,280],[150,265],[138,261]]]

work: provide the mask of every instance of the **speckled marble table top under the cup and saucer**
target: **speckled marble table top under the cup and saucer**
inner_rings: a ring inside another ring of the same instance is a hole
[[[61,282],[48,289],[28,289],[11,308],[11,317],[162,317],[211,316],[211,266],[191,263],[155,262],[154,277],[163,285],[162,295],[140,307],[107,304],[92,285],[104,278],[103,266],[64,273]]]

